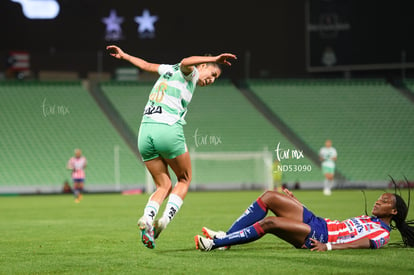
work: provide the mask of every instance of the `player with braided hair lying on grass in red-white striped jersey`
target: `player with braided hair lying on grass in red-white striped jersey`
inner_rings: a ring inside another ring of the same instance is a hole
[[[203,227],[206,237],[194,237],[196,248],[228,249],[231,245],[258,240],[267,233],[296,248],[312,251],[380,248],[388,243],[391,228],[400,231],[405,246],[414,246],[414,228],[406,222],[408,207],[397,194],[382,194],[374,204],[372,216],[337,221],[315,216],[292,192],[284,189],[284,193],[264,192],[227,232]],[[269,209],[276,216],[267,216]]]

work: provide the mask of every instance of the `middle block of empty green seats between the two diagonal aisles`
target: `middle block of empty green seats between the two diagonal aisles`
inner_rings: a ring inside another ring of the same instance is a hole
[[[109,82],[101,86],[127,124],[137,132],[152,83]],[[186,121],[184,131],[187,145],[192,152],[268,150],[275,154],[274,150],[278,143],[284,149],[295,149],[291,142],[227,80],[219,80],[212,86],[198,88],[189,105]],[[274,157],[276,158],[275,155]],[[260,169],[243,166],[242,162],[220,165],[211,162],[194,164],[195,184],[217,181],[217,174],[227,183],[247,181],[248,184],[248,179],[252,177],[251,173],[256,173],[252,170]],[[306,158],[296,162],[290,159],[284,164],[312,165]],[[320,180],[320,169],[315,165],[312,168],[312,171],[307,173],[285,173],[284,180],[289,182]]]

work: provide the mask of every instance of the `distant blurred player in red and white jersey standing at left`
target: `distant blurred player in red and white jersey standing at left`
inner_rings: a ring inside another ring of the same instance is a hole
[[[73,195],[75,202],[79,203],[82,199],[83,188],[85,184],[86,158],[82,156],[81,149],[75,149],[75,156],[71,157],[67,163],[67,168],[72,171]]]

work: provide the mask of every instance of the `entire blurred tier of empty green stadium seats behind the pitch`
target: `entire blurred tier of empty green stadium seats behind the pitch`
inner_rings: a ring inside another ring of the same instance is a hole
[[[408,89],[413,89],[412,83],[407,80]],[[414,105],[386,81],[291,79],[246,84],[271,114],[265,116],[264,108],[253,105],[228,80],[200,88],[184,127],[190,152],[266,151],[271,160],[281,158],[284,183],[300,182],[301,188],[311,189],[322,186],[315,155],[330,138],[338,151],[337,171],[344,177],[338,181],[340,188],[386,188],[389,175],[414,179]],[[81,148],[88,158],[87,191],[145,189],[144,165],[131,149],[136,143],[131,145],[124,132],[136,140],[152,82],[98,83],[95,88],[109,102],[107,109],[96,102],[90,87],[80,81],[0,82],[0,193],[60,192],[70,179],[65,165],[74,148]],[[114,114],[116,119],[111,118]],[[269,116],[283,121],[290,135]],[[114,125],[121,122],[124,130]],[[292,134],[302,143],[294,142]],[[310,151],[299,154],[304,147]],[[264,165],[194,160],[192,185],[195,190],[266,188],[260,185],[268,178]]]

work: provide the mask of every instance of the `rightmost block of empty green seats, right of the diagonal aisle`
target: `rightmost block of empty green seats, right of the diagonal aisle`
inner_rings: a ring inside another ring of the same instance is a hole
[[[350,181],[414,177],[414,106],[382,80],[250,81],[315,152],[326,139]]]

